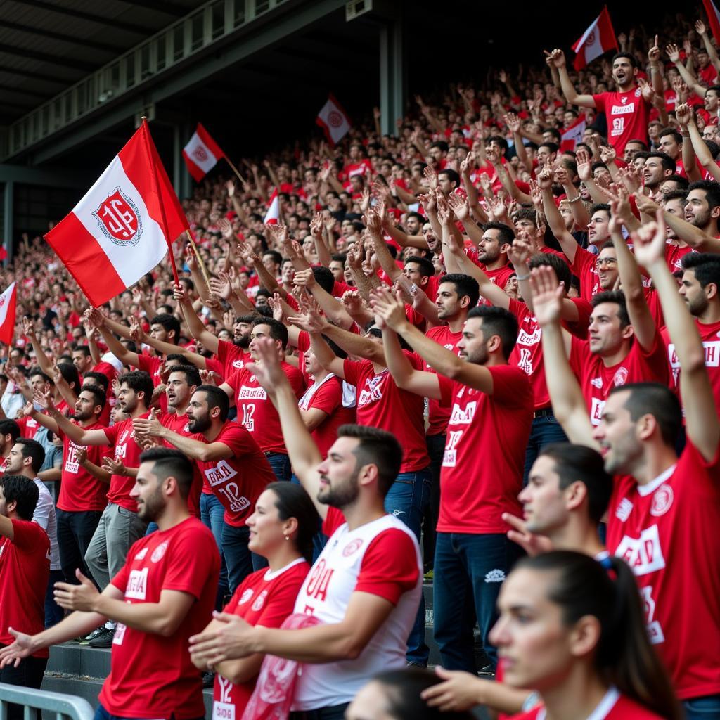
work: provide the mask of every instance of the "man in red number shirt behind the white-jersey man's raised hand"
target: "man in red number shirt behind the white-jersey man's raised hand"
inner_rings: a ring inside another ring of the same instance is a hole
[[[258,338],[272,338],[284,353],[287,347],[287,328],[274,318],[257,318],[251,330],[250,354],[254,355]],[[305,389],[302,373],[297,367],[283,361],[282,369],[300,398]],[[238,423],[253,436],[270,463],[278,480],[289,480],[292,476],[290,462],[282,439],[280,419],[267,393],[258,385],[255,376],[243,367],[220,385],[238,408]]]

